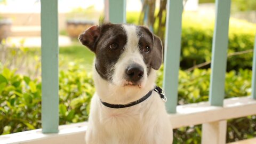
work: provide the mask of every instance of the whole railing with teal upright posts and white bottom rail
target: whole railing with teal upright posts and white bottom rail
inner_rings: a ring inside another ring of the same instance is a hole
[[[105,19],[125,23],[126,1],[106,0]],[[164,90],[170,122],[176,129],[203,124],[202,143],[225,143],[227,119],[256,114],[256,38],[253,54],[252,95],[225,99],[230,0],[216,0],[209,102],[177,106],[181,50],[182,1],[167,1]],[[59,126],[58,0],[41,1],[42,27],[42,130],[3,135],[0,143],[83,143],[86,122]],[[58,133],[59,132],[59,133]],[[53,134],[45,134],[53,133]],[[2,141],[1,141],[2,140]]]

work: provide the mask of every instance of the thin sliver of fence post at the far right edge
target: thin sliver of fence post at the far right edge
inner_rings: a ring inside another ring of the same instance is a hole
[[[252,64],[252,98],[256,100],[256,35],[253,49],[253,64]]]

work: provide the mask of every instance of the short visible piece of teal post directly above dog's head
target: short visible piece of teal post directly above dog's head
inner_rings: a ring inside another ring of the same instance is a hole
[[[109,2],[108,16],[112,23],[126,23],[126,0],[105,0]]]

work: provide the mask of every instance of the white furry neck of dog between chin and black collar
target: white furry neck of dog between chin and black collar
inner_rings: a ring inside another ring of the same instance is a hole
[[[138,86],[117,86],[103,79],[93,67],[93,77],[96,93],[99,98],[111,104],[125,105],[132,101],[138,100],[154,89],[156,70],[152,69],[148,75],[146,85],[139,88]]]

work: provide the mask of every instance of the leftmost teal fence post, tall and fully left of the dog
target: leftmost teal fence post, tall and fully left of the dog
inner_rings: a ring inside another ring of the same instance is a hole
[[[41,1],[42,131],[57,133],[59,126],[58,0]]]

